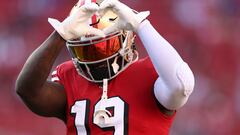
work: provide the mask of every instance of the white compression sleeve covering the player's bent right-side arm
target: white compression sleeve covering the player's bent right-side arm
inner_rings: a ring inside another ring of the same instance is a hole
[[[194,87],[191,69],[148,20],[142,22],[137,34],[159,75],[154,85],[156,98],[168,109],[180,108]]]

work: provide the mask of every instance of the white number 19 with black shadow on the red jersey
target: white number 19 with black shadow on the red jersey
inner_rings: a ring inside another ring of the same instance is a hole
[[[94,113],[99,108],[100,102],[94,106]],[[120,97],[112,97],[106,100],[103,106],[110,111],[110,124],[97,125],[99,128],[106,130],[114,130],[114,135],[127,135],[128,133],[128,106]],[[90,128],[88,124],[90,101],[81,100],[76,101],[71,108],[71,113],[75,116],[75,127],[77,135],[90,135]],[[93,113],[93,114],[94,114]]]

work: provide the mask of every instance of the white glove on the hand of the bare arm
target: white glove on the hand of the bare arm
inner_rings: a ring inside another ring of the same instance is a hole
[[[76,10],[62,23],[52,18],[48,18],[48,22],[65,40],[76,39],[85,35],[105,37],[103,31],[89,26],[90,18],[99,10],[99,6],[96,3],[85,4],[81,7],[74,8],[76,8]]]

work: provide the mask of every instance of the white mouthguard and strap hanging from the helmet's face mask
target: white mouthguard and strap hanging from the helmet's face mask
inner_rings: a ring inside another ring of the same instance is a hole
[[[107,92],[108,92],[108,79],[103,79],[102,98],[99,102],[100,107],[97,108],[96,112],[94,113],[93,119],[93,123],[101,127],[111,124],[110,117],[112,116],[112,114],[105,108],[107,103],[106,100],[108,99]]]

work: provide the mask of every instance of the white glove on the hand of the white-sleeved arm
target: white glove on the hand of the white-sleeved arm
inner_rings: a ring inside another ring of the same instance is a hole
[[[103,16],[108,10],[118,15],[116,23],[104,29],[104,33],[111,33],[117,30],[137,31],[140,23],[150,14],[149,11],[134,13],[133,9],[118,0],[104,0],[100,4],[99,14]]]

